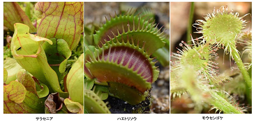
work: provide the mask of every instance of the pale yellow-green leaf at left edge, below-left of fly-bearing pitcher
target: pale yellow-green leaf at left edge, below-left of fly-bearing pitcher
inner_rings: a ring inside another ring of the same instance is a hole
[[[6,58],[4,60],[4,68],[8,73],[5,84],[9,84],[11,81],[16,80],[16,73],[22,69],[14,58]]]

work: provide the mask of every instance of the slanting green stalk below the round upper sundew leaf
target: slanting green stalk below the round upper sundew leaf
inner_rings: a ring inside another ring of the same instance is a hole
[[[244,63],[242,62],[239,53],[236,51],[235,47],[231,47],[231,50],[231,54],[236,62],[237,67],[241,71],[247,86],[251,89],[251,77],[249,76],[249,73],[245,69]]]

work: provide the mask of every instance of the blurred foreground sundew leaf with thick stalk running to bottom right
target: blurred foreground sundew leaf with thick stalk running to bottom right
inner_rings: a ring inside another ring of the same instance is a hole
[[[227,102],[226,99],[217,94],[217,92],[215,92],[212,89],[209,89],[209,87],[207,87],[205,84],[196,80],[194,73],[196,72],[196,70],[194,70],[194,68],[191,67],[191,65],[186,65],[186,68],[183,71],[184,75],[182,76],[182,80],[184,82],[184,85],[186,85],[186,89],[188,90],[194,102],[200,104],[200,102],[204,100],[205,102],[210,103],[216,106],[217,108],[221,109],[222,111],[224,111],[224,113],[241,114],[238,108]],[[205,97],[205,95],[209,96]]]

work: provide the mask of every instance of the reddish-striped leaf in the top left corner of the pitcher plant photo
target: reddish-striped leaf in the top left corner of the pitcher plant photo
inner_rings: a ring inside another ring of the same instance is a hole
[[[26,24],[30,27],[30,33],[36,32],[30,19],[16,2],[4,2],[4,26],[14,31],[15,23]]]

